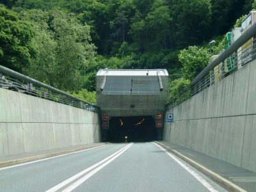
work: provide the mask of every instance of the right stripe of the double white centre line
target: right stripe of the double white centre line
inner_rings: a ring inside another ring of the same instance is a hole
[[[132,145],[132,143],[131,143]],[[129,147],[131,147],[131,145],[129,145]],[[69,192],[69,191],[73,191],[74,189],[76,189],[78,186],[80,186],[81,184],[83,184],[84,181],[86,181],[87,179],[89,179],[90,177],[92,177],[92,175],[94,175],[95,173],[99,172],[99,170],[101,170],[102,168],[104,168],[104,166],[108,165],[109,163],[111,163],[112,161],[114,161],[118,156],[120,156],[122,153],[125,152],[125,150],[127,150],[129,147],[125,148],[124,150],[122,150],[122,152],[120,152],[119,154],[117,154],[116,156],[112,157],[111,159],[109,159],[108,161],[106,161],[104,164],[101,164],[100,166],[98,166],[97,168],[95,168],[95,170],[93,170],[92,172],[84,175],[84,177],[82,177],[81,179],[77,180],[76,182],[74,182],[74,184],[72,184],[71,186],[69,186],[68,188],[64,189],[63,192]]]

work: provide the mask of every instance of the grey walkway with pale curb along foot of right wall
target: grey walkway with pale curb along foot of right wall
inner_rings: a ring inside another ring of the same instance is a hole
[[[250,178],[256,176],[254,172],[173,143],[164,141],[155,142],[175,154],[175,156],[180,157],[180,159],[184,160],[186,163],[191,164],[191,166],[204,173],[204,175],[214,180],[214,182],[220,184],[220,186],[228,191],[255,190],[256,182],[249,182]],[[244,179],[243,182],[234,182],[234,180],[231,179],[241,177]]]

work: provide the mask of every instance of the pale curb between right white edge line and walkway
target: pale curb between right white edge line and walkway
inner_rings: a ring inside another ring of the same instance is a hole
[[[161,145],[162,147],[166,148],[166,150],[168,150],[169,152],[172,152],[172,154],[175,154],[175,156],[180,157],[180,159],[182,159],[186,163],[188,163],[191,166],[193,166],[194,168],[196,168],[196,170],[204,173],[204,175],[209,177],[211,180],[213,180],[214,182],[216,182],[217,184],[219,184],[221,187],[225,188],[226,190],[234,191],[234,192],[246,192],[246,190],[244,190],[243,188],[240,188],[239,186],[230,182],[229,180],[225,179],[224,177],[221,177],[221,175],[218,175],[217,173],[212,172],[205,166],[202,166],[201,164],[196,163],[196,161],[193,161],[192,159],[189,159],[188,157],[180,154],[179,152],[177,152],[177,150],[174,150],[174,149],[164,145],[163,143],[159,143],[157,141],[154,141],[154,142],[157,143],[158,145]]]

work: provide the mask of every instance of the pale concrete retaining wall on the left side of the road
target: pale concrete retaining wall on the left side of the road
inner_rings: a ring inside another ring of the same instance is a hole
[[[97,113],[0,88],[0,156],[99,142]]]

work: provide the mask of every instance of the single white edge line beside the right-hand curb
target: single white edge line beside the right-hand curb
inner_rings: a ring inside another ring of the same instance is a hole
[[[180,166],[182,166],[187,172],[189,172],[191,175],[193,175],[193,177],[195,177],[195,179],[197,179],[201,184],[203,184],[205,186],[205,188],[207,188],[209,191],[211,192],[218,192],[218,190],[214,189],[211,184],[209,184],[209,182],[207,182],[203,177],[201,177],[200,175],[198,175],[198,173],[194,172],[193,170],[191,170],[191,168],[189,168],[188,166],[186,166],[186,164],[182,163],[179,159],[177,159],[175,156],[173,156],[172,154],[170,154],[170,152],[168,152],[165,148],[161,147],[160,145],[158,145],[157,143],[154,143],[155,145],[157,145],[157,147],[161,148],[161,150],[163,150],[164,152],[166,152],[166,154],[168,154],[168,156],[172,157],[172,159],[174,161],[176,161],[177,163],[180,164]]]

